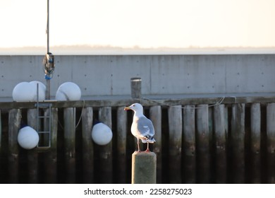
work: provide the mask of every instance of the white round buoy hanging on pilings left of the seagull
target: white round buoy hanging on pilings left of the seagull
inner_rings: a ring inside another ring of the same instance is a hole
[[[92,127],[92,140],[99,145],[109,144],[113,137],[110,127],[99,122]]]

